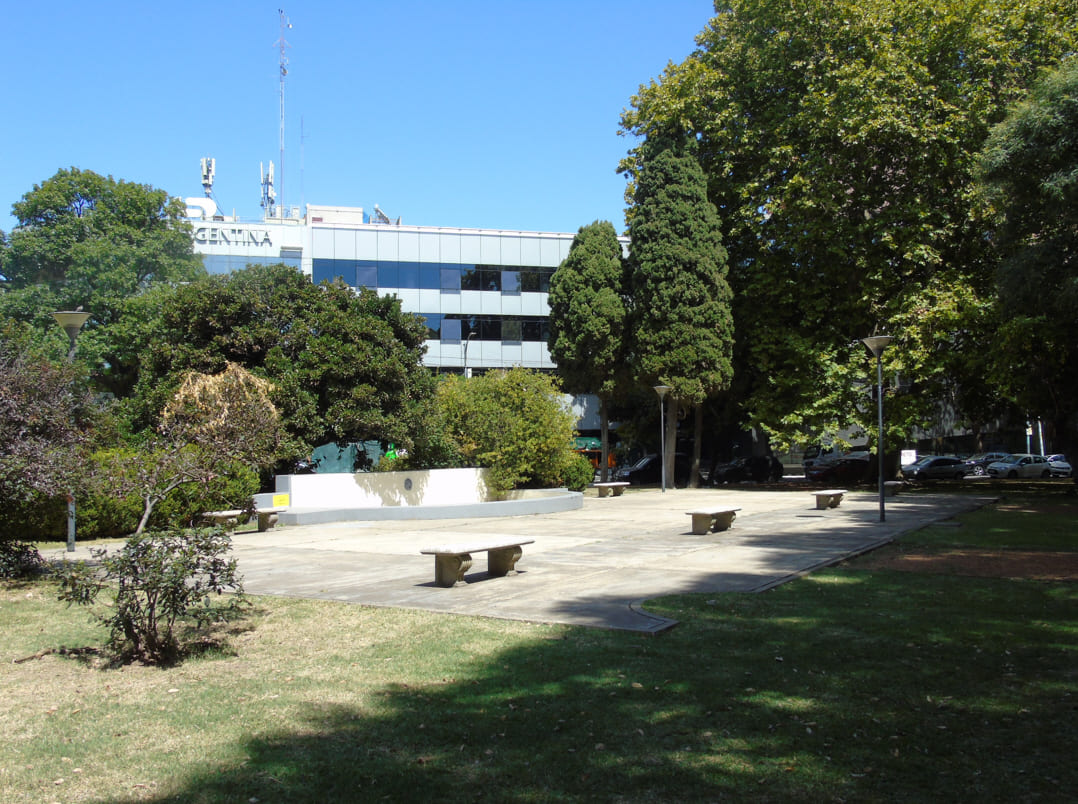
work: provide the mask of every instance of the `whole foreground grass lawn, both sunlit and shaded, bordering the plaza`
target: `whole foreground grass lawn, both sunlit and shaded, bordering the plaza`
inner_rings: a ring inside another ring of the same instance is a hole
[[[903,544],[1073,551],[1076,513],[1058,496],[1005,499]],[[854,562],[765,594],[648,608],[681,624],[645,637],[257,598],[223,651],[98,669],[78,654],[13,664],[102,633],[47,583],[6,584],[0,800],[1012,802],[1078,789],[1075,583]]]

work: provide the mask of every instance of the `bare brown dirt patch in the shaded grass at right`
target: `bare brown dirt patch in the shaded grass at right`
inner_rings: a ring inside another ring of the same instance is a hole
[[[908,551],[890,544],[852,559],[855,569],[1021,578],[1032,581],[1078,581],[1078,553],[1018,550]]]

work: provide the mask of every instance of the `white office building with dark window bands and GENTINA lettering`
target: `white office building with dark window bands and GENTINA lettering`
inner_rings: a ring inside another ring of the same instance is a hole
[[[554,369],[547,294],[571,234],[372,224],[359,208],[315,205],[288,222],[194,226],[212,274],[284,262],[315,283],[341,279],[396,296],[426,320],[432,369]]]

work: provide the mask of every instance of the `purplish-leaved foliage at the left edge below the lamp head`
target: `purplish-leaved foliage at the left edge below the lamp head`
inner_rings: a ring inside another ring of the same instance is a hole
[[[79,481],[89,401],[79,370],[51,363],[27,327],[0,322],[0,540]]]

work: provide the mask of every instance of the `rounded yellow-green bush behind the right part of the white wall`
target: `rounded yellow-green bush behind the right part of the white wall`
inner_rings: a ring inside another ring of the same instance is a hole
[[[575,418],[550,375],[526,369],[446,377],[438,388],[446,434],[495,493],[561,485]]]

